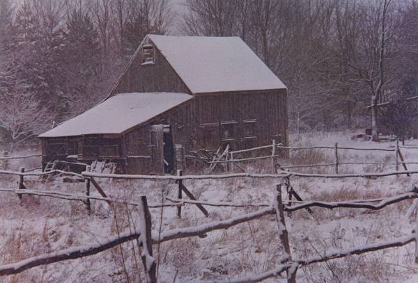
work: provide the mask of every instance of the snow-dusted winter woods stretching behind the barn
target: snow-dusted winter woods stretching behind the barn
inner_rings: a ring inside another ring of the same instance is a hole
[[[291,130],[367,127],[366,106],[418,95],[417,26],[412,0],[0,0],[0,132],[100,102],[147,33],[240,36],[288,87]]]

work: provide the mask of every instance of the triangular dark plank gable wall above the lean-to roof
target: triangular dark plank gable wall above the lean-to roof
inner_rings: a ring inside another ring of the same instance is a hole
[[[154,64],[143,65],[143,54],[141,52],[141,47],[139,47],[137,56],[132,58],[132,63],[122,74],[121,79],[116,83],[111,95],[123,92],[190,93],[185,83],[183,83],[164,56],[162,56],[161,52],[155,47],[154,49]]]

